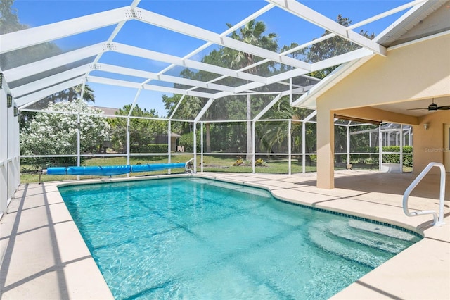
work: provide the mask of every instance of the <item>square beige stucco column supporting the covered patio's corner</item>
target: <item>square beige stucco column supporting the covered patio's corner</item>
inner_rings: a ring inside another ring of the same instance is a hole
[[[321,107],[317,101],[317,187],[335,187],[334,154],[335,130],[334,113]]]

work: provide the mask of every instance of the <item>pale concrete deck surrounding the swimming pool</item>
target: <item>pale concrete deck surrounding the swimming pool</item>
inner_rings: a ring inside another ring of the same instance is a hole
[[[401,201],[412,174],[337,171],[335,189],[317,189],[315,173],[198,175],[264,187],[280,199],[400,225],[425,236],[333,299],[450,299],[449,196],[445,225],[431,226],[432,215],[407,217]],[[57,186],[62,183],[67,182],[21,185],[0,220],[0,299],[113,299],[60,197]],[[439,175],[420,182],[409,207],[438,210]]]

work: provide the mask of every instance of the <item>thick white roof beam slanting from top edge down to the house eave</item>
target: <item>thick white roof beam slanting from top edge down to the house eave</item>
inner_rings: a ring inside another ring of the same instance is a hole
[[[347,27],[340,25],[339,23],[327,18],[325,15],[321,15],[314,9],[311,9],[304,4],[301,4],[297,1],[285,1],[285,0],[266,0],[271,4],[274,4],[293,15],[297,15],[298,17],[307,20],[309,23],[313,23],[318,25],[329,32],[333,32],[344,39],[349,40],[359,46],[362,46],[366,49],[373,51],[375,54],[380,54],[382,56],[386,56],[386,48],[381,46],[380,44],[373,42],[371,39],[368,39],[359,33],[354,32],[353,30],[349,30]]]

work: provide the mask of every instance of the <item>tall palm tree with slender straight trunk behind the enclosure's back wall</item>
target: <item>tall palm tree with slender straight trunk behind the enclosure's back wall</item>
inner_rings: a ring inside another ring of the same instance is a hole
[[[231,24],[226,24],[231,27]],[[263,35],[266,31],[266,24],[262,21],[251,20],[244,27],[240,28],[239,32],[234,31],[231,34],[233,39],[238,39],[241,42],[245,42],[247,44],[251,44],[254,46],[259,46],[261,48],[276,51],[278,49],[278,43],[276,42],[276,34],[269,33],[269,35]],[[245,68],[249,65],[257,63],[260,59],[253,54],[249,54],[243,51],[226,51],[226,58],[231,58],[231,67],[232,68]],[[264,74],[269,73],[270,64],[257,65],[248,70],[250,74]],[[264,69],[265,68],[265,69]],[[247,157],[246,160],[250,161],[252,156],[250,153],[252,152],[252,122],[250,119],[252,118],[252,105],[251,105],[251,97],[247,96]]]

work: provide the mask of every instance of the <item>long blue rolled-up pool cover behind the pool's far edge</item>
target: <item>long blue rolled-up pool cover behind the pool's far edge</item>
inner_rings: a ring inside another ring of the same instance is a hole
[[[153,163],[147,165],[105,165],[91,167],[47,168],[48,175],[120,175],[131,172],[151,172],[174,168],[185,168],[186,163]]]

